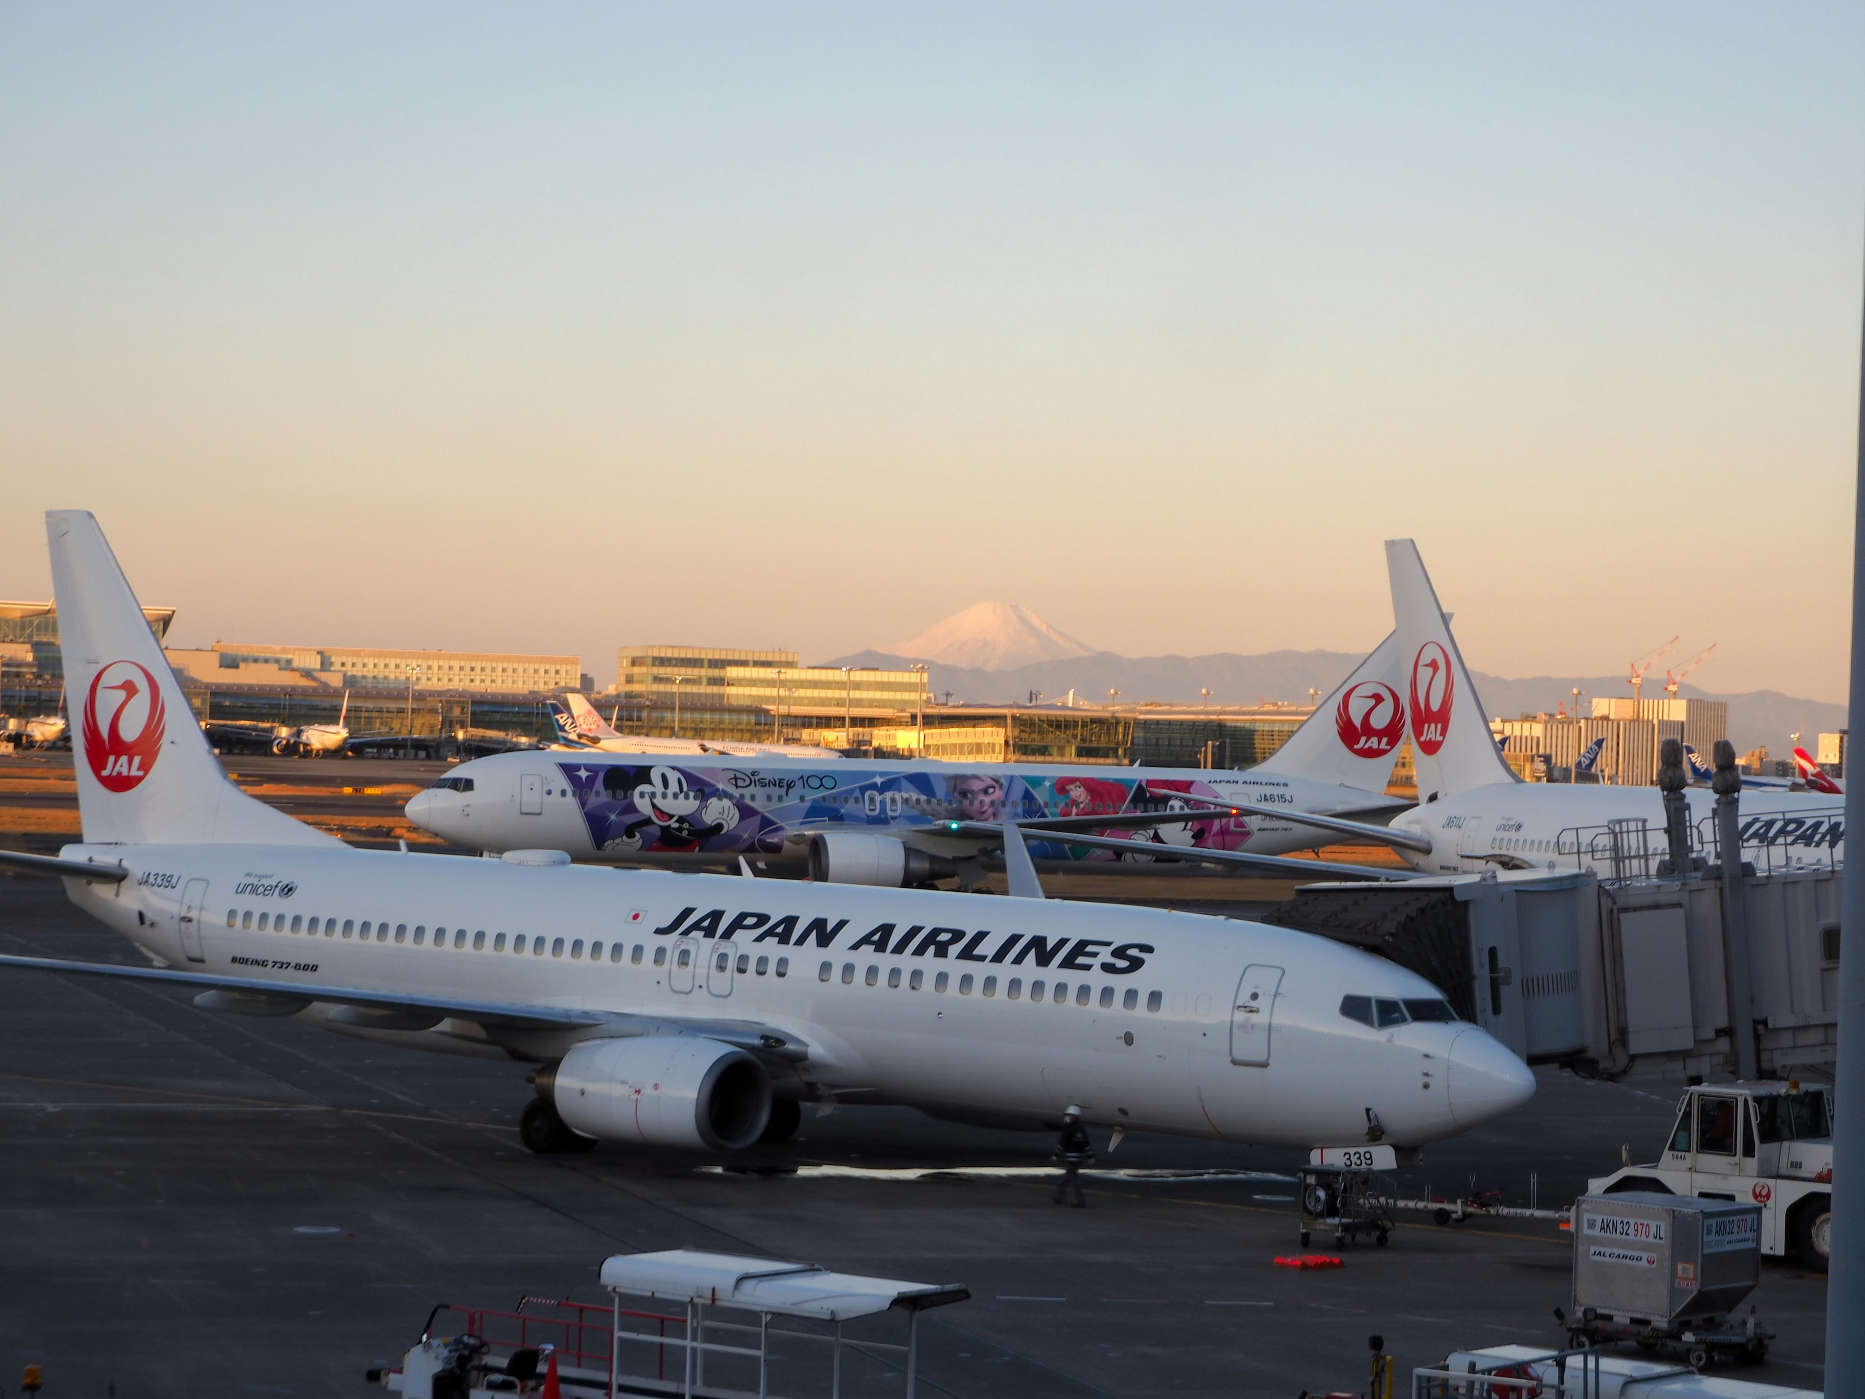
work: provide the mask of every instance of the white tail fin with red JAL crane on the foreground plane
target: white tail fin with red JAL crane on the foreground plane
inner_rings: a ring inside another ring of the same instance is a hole
[[[231,782],[136,604],[97,519],[45,515],[84,839],[334,845]]]

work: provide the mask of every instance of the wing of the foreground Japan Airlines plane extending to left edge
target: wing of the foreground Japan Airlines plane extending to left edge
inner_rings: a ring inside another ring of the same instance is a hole
[[[76,864],[76,862],[63,862]],[[362,990],[356,987],[325,987],[304,981],[259,981],[244,976],[216,976],[213,972],[179,972],[166,966],[129,966],[119,963],[75,963],[56,957],[0,955],[0,966],[19,966],[32,972],[65,972],[78,976],[108,976],[123,981],[157,981],[177,987],[200,987],[229,996],[250,996],[274,1004],[325,1002],[336,1005],[364,1005],[377,1009],[433,1011],[436,1017],[520,1026],[530,1030],[610,1026],[621,1033],[694,1033],[718,1039],[757,1054],[804,1060],[809,1046],[794,1035],[772,1026],[744,1020],[688,1020],[656,1015],[621,1015],[615,1011],[574,1011],[558,1005],[517,1005],[511,1002],[455,1000],[451,996],[414,996],[401,990]],[[298,1009],[302,1009],[302,1005]]]

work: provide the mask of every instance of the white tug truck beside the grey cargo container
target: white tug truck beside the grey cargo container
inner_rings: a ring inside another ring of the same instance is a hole
[[[1664,1155],[1587,1183],[1587,1194],[1654,1190],[1761,1205],[1761,1252],[1798,1252],[1826,1272],[1833,1231],[1833,1104],[1794,1082],[1693,1084]]]

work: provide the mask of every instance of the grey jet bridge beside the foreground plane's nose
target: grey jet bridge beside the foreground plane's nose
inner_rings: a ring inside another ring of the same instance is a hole
[[[1731,994],[1716,866],[1686,879],[1485,871],[1309,884],[1266,921],[1389,957],[1529,1063],[1589,1076],[1826,1076],[1837,1054],[1831,864],[1746,873],[1749,1005]],[[1740,944],[1736,944],[1740,946]]]

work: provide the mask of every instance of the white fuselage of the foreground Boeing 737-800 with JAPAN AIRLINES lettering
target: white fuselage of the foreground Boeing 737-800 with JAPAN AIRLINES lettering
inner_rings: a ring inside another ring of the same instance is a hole
[[[1367,1140],[1369,1110],[1388,1142],[1423,1143],[1533,1093],[1475,1026],[1341,1013],[1343,994],[1436,1004],[1421,977],[1261,923],[311,845],[63,856],[127,866],[67,892],[173,966],[311,998],[772,1026],[808,1045],[804,1097],[1020,1121],[1078,1102],[1091,1123],[1309,1147]]]

